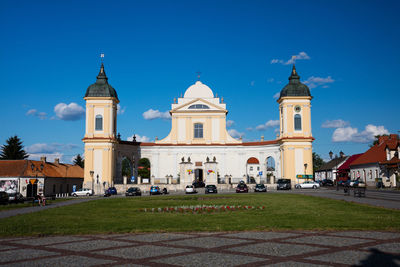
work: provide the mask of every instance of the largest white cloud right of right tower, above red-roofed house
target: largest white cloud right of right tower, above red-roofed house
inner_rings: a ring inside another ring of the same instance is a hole
[[[389,131],[384,126],[375,126],[368,124],[365,130],[358,132],[357,128],[344,127],[337,128],[332,135],[333,142],[355,142],[369,143],[375,139],[375,135],[389,134]]]

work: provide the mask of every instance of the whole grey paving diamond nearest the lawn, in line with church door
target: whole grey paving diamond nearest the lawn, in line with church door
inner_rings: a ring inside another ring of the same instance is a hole
[[[199,247],[199,248],[217,248],[229,245],[236,245],[241,243],[247,243],[246,240],[240,239],[229,239],[229,238],[219,238],[219,237],[200,237],[185,239],[179,241],[169,241],[166,244],[173,244],[178,246],[187,247]]]

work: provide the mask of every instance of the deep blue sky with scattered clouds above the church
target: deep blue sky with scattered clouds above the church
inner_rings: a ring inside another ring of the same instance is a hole
[[[298,55],[314,151],[364,152],[374,134],[400,130],[398,10],[399,1],[2,1],[0,143],[17,134],[33,158],[64,162],[83,153],[83,96],[100,53],[123,139],[164,138],[162,115],[197,71],[224,97],[232,134],[274,139],[274,95]]]

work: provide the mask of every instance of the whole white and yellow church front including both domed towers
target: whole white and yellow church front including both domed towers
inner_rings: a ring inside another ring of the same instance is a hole
[[[277,178],[296,181],[312,174],[311,95],[293,66],[289,83],[278,99],[280,131],[275,140],[243,142],[226,129],[223,98],[201,81],[171,105],[171,131],[155,142],[123,141],[117,134],[116,90],[101,65],[96,83],[86,91],[84,185],[101,193],[118,184],[168,184],[183,189],[195,181],[230,185],[274,184]],[[149,177],[138,177],[139,160],[150,162]],[[135,177],[122,176],[128,160]],[[294,183],[293,183],[294,184]]]

